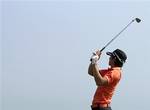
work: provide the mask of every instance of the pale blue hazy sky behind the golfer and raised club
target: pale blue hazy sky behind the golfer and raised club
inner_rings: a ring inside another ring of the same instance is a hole
[[[96,89],[87,69],[101,49],[126,52],[113,110],[147,110],[150,102],[150,1],[6,0],[0,2],[0,109],[90,110]]]

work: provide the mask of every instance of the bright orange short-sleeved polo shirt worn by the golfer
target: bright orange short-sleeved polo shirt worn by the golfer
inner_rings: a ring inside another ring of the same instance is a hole
[[[102,77],[108,80],[108,85],[98,86],[92,104],[110,104],[116,85],[121,79],[121,68],[115,67],[100,70]]]

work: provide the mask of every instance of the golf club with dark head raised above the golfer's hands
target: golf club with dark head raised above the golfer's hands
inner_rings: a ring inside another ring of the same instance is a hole
[[[101,50],[100,52],[102,52],[111,42],[113,42],[127,27],[129,27],[134,21],[136,21],[137,23],[141,22],[141,19],[139,18],[135,18],[133,19],[126,27],[124,27],[115,37],[113,37],[113,39],[111,39]]]

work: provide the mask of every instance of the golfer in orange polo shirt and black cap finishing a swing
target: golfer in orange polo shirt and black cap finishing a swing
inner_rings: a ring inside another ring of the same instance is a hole
[[[110,56],[108,69],[98,67],[97,61],[101,56],[100,51],[96,51],[91,57],[88,68],[88,74],[94,77],[97,85],[91,105],[92,110],[111,110],[112,96],[121,79],[121,68],[127,59],[125,52],[120,49],[106,54]]]

